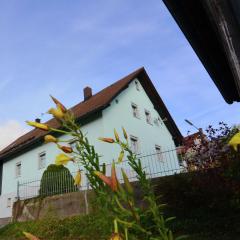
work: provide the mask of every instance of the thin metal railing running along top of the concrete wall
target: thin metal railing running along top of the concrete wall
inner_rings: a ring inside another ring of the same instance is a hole
[[[186,171],[182,166],[183,156],[177,154],[177,150],[168,150],[159,153],[141,153],[137,155],[141,160],[141,164],[148,178],[157,178],[167,175],[178,174]],[[128,165],[128,161],[124,160],[116,164],[116,172],[119,182],[123,182],[121,169],[124,169],[130,181],[136,181],[136,173]],[[106,175],[111,172],[111,163],[106,164]],[[56,194],[64,194],[75,191],[88,190],[89,183],[86,173],[82,171],[81,187],[74,186],[74,176],[76,172],[70,173],[53,172],[44,175],[44,181],[41,179],[22,181],[17,184],[17,198],[29,199],[37,196],[51,196]]]

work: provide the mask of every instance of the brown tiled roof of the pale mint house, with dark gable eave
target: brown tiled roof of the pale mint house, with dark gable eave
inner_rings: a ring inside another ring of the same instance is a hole
[[[133,73],[129,74],[128,76],[120,79],[119,81],[115,82],[114,84],[106,87],[102,91],[98,92],[97,94],[93,95],[87,101],[80,102],[79,104],[75,105],[71,108],[71,111],[75,115],[77,119],[81,119],[86,115],[95,113],[106,108],[110,102],[121,92],[123,91],[128,84],[135,78],[143,85],[145,91],[147,92],[148,96],[152,100],[155,109],[159,112],[162,118],[167,118],[167,127],[171,132],[172,136],[180,142],[182,140],[182,135],[178,130],[175,122],[173,121],[172,117],[170,116],[167,108],[165,107],[162,99],[158,95],[156,89],[154,88],[151,80],[149,79],[146,71],[144,68],[140,68]],[[51,127],[59,128],[60,125],[55,119],[51,119],[46,122]],[[0,152],[0,160],[5,160],[12,156],[13,154],[18,153],[19,151],[30,147],[32,144],[36,143],[37,141],[41,140],[43,136],[46,134],[45,131],[34,129],[25,135],[19,137],[9,146],[4,148]]]

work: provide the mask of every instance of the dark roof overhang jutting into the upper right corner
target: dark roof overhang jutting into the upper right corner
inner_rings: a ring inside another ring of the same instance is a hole
[[[225,101],[240,101],[240,1],[163,2]]]

